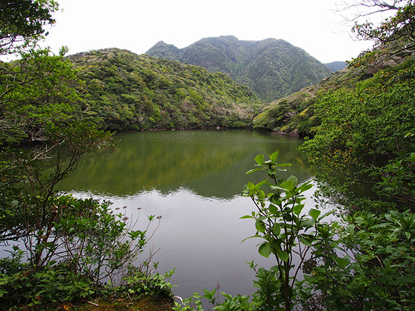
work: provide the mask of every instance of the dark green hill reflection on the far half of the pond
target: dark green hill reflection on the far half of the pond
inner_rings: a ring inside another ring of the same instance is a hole
[[[300,140],[252,131],[168,131],[116,135],[120,148],[79,165],[59,189],[91,190],[123,196],[143,190],[162,193],[189,187],[201,196],[231,198],[239,194],[258,153],[278,150],[291,173],[311,176]],[[260,179],[260,178],[259,178]]]

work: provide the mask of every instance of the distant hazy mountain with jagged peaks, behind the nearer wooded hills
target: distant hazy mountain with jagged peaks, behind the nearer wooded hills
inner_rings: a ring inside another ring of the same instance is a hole
[[[317,84],[332,73],[304,50],[282,39],[243,41],[234,36],[210,37],[185,48],[159,41],[146,54],[225,73],[250,86],[264,102]]]

